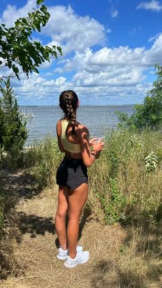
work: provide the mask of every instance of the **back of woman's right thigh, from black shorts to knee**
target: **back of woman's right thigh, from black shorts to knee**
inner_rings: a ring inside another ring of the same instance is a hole
[[[68,196],[68,213],[69,217],[78,218],[82,212],[82,208],[86,203],[88,197],[89,186],[86,183],[83,183],[78,188],[69,192]]]

